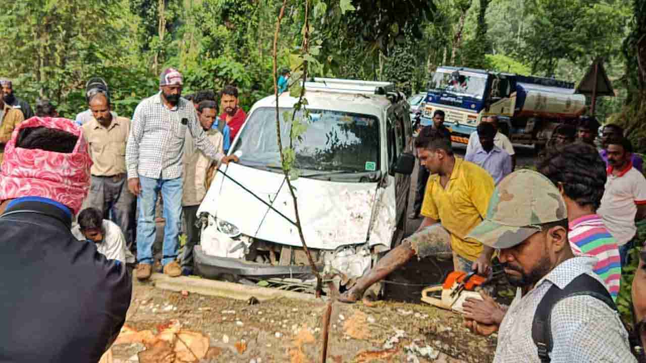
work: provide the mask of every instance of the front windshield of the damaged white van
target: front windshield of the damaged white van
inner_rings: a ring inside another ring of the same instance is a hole
[[[284,147],[289,144],[292,113],[293,109],[279,110]],[[296,117],[302,118],[302,112]],[[303,176],[379,171],[379,119],[375,116],[310,109],[304,124],[305,132],[294,140],[295,166],[306,170]],[[242,165],[280,172],[276,109],[262,107],[249,115],[234,152]]]

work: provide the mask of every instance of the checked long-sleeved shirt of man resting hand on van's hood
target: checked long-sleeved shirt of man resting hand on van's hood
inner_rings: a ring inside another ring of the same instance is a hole
[[[168,109],[161,101],[161,92],[141,101],[134,110],[126,146],[128,178],[175,179],[182,176],[187,129],[196,147],[206,156],[216,161],[224,158],[224,154],[217,152],[207,140],[191,102],[180,98],[173,109]]]

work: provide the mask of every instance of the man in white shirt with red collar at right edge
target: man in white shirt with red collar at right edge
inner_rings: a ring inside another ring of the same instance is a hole
[[[646,218],[646,178],[632,167],[630,140],[623,136],[610,138],[606,151],[608,178],[597,214],[617,240],[621,265],[625,266],[637,233],[635,222]]]

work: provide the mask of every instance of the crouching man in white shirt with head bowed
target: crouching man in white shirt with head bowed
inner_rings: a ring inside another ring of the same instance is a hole
[[[98,209],[83,209],[77,219],[78,225],[72,228],[74,237],[94,242],[98,253],[108,260],[134,264],[134,255],[126,248],[123,232],[114,222],[104,220]]]

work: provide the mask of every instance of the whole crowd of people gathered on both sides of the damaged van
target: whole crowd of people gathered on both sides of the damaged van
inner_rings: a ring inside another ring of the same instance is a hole
[[[136,264],[140,280],[154,270],[160,205],[161,271],[192,273],[198,206],[218,165],[238,161],[226,156],[246,118],[238,90],[182,97],[182,74],[168,68],[160,92],[129,119],[112,110],[105,81],[93,78],[88,109],[71,121],[47,101],[32,115],[10,81],[0,85],[0,296],[8,307],[0,312],[0,357],[96,362],[125,322],[127,264]],[[605,125],[598,150],[596,119],[559,125],[536,171],[514,171],[514,147],[497,118],[483,118],[464,158],[443,123],[435,111],[414,143],[422,168],[411,217],[423,216],[419,229],[339,299],[359,300],[413,256],[452,259],[456,271],[483,276],[497,256],[517,287],[510,306],[488,295],[464,303],[466,327],[497,332],[495,362],[634,361],[615,302],[638,244],[636,223],[646,218],[646,178],[621,127]],[[178,256],[182,216],[187,243]],[[645,264],[642,252],[632,285],[642,344]],[[65,333],[32,338],[48,330]],[[70,344],[80,341],[88,344]]]

